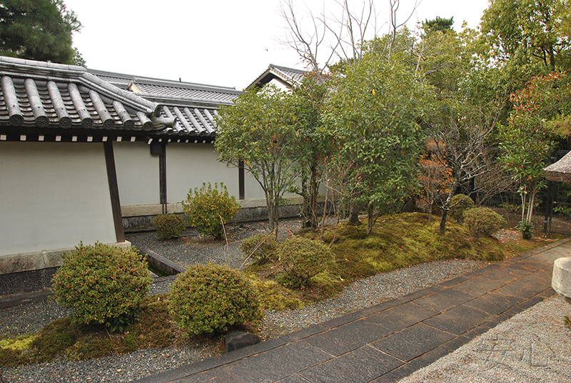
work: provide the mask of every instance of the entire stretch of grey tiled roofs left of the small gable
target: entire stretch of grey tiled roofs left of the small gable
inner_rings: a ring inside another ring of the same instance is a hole
[[[144,93],[127,90],[133,85]],[[6,132],[31,134],[30,129],[69,129],[74,134],[106,129],[151,138],[173,135],[179,141],[211,141],[216,136],[218,107],[232,104],[238,94],[236,89],[219,86],[141,81],[81,66],[0,56],[0,139],[6,139]]]

